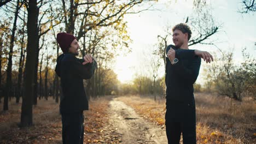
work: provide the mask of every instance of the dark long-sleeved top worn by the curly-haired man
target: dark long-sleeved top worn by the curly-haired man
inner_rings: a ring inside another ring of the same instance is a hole
[[[194,98],[194,88],[201,58],[195,56],[194,50],[176,49],[173,45],[166,47],[166,53],[173,47],[178,58],[178,63],[172,65],[166,57],[165,84],[166,102],[168,101],[191,101]]]

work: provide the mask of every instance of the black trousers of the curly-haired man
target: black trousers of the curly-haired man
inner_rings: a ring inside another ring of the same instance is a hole
[[[165,125],[168,144],[196,143],[195,100],[191,102],[166,101]]]

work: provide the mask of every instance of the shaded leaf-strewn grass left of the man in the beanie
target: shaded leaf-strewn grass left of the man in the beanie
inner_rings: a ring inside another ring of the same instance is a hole
[[[0,114],[0,143],[61,143],[61,116],[53,99],[38,100],[33,106],[32,127],[18,127],[20,114],[21,103],[9,101],[9,110]]]

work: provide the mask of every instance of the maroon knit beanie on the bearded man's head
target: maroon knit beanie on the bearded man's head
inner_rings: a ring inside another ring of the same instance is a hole
[[[57,34],[57,42],[60,45],[62,52],[68,52],[68,48],[74,39],[77,38],[75,38],[74,35],[69,33],[63,32]]]

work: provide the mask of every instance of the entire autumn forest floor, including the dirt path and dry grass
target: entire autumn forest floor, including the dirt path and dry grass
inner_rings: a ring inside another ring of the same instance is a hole
[[[197,143],[256,143],[256,103],[196,93]],[[0,108],[3,103],[0,103]],[[84,143],[167,143],[165,99],[122,96],[90,100]],[[61,115],[54,99],[33,106],[33,126],[19,128],[21,103],[0,111],[0,143],[62,143]],[[182,139],[181,139],[182,141]]]

